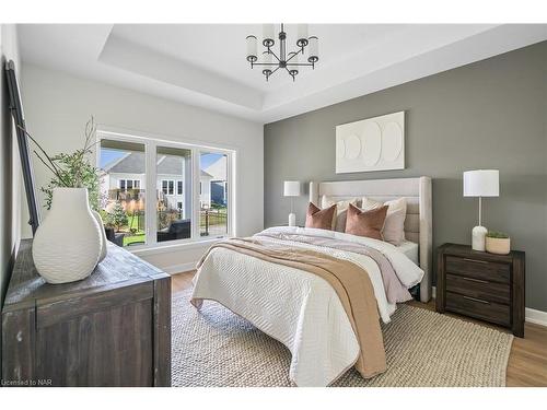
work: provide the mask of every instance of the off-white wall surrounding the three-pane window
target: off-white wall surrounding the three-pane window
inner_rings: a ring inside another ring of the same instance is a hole
[[[79,148],[91,115],[108,128],[235,149],[236,235],[251,235],[263,229],[264,129],[260,124],[26,63],[23,63],[23,104],[28,131],[53,153]],[[45,185],[49,175],[37,161],[34,164],[36,183]],[[23,215],[22,221],[26,218]],[[23,234],[30,235],[26,225]],[[176,271],[191,267],[206,247],[183,246],[139,256],[162,269]]]

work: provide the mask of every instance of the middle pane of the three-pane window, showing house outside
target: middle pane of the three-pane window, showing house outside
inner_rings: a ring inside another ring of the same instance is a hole
[[[158,242],[191,237],[191,150],[156,148]]]

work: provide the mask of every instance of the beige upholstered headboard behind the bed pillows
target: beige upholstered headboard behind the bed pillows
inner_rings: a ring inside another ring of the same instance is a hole
[[[420,300],[431,298],[432,281],[432,195],[431,178],[344,180],[334,183],[310,183],[310,201],[321,206],[321,197],[327,195],[339,200],[370,197],[379,201],[405,197],[407,218],[405,236],[419,245],[420,267],[426,274],[420,283]]]

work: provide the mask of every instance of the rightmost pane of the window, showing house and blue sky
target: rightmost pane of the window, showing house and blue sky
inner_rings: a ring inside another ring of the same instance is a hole
[[[199,233],[201,236],[228,234],[228,155],[201,152],[199,155]]]

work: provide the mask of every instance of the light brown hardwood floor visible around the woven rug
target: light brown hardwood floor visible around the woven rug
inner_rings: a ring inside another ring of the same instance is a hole
[[[174,274],[172,277],[173,294],[190,288],[194,273],[194,271],[190,271]],[[428,304],[412,301],[409,302],[409,304],[430,311],[435,309],[434,301],[431,301]],[[482,321],[466,318],[464,316],[455,314],[447,315],[484,326],[496,327],[493,325],[487,325]],[[507,331],[503,328],[499,329],[501,331]],[[507,385],[509,387],[547,387],[547,327],[526,324],[524,327],[524,339],[514,338],[513,340],[511,354],[509,356]]]

